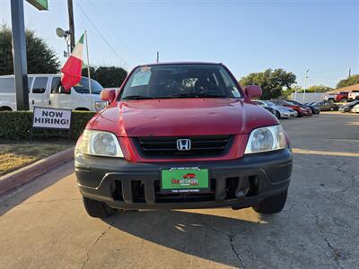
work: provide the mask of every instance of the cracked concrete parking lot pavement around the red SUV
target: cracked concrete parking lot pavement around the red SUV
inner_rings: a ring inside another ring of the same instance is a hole
[[[1,198],[0,267],[357,267],[359,115],[282,124],[294,152],[282,213],[224,208],[92,219],[68,162]]]

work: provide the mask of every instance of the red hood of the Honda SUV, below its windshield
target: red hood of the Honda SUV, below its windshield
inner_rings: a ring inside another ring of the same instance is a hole
[[[276,125],[276,117],[241,99],[127,100],[112,103],[91,128],[118,136],[249,134]]]

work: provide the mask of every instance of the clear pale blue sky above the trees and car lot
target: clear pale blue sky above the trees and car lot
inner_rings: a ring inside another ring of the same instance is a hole
[[[11,0],[0,0],[0,22],[11,25]],[[24,3],[25,26],[46,39],[62,63],[67,1],[48,11]],[[335,87],[359,74],[359,0],[81,1],[74,0],[75,38],[88,32],[91,65],[128,71],[161,62],[221,62],[241,76],[284,68],[304,84]]]

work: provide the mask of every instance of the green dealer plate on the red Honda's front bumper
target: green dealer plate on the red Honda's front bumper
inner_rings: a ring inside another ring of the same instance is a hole
[[[204,193],[209,190],[208,169],[162,169],[162,193]]]

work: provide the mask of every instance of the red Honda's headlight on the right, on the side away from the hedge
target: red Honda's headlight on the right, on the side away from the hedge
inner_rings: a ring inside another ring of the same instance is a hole
[[[287,146],[282,126],[268,126],[253,130],[244,154],[270,152]]]

